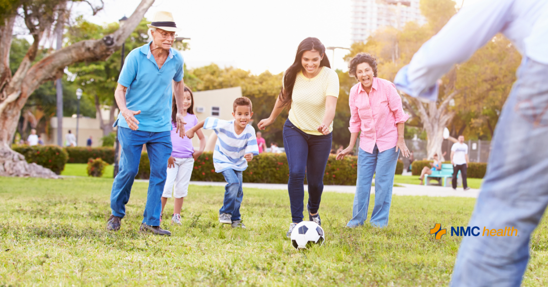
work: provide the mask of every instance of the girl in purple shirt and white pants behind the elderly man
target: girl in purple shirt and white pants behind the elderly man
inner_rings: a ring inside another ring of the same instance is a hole
[[[175,97],[175,95],[173,96]],[[185,118],[185,130],[190,130],[191,127],[196,126],[198,123],[198,118],[194,115],[194,97],[190,88],[185,87],[185,97],[182,102],[182,106],[185,109],[184,118]],[[173,202],[173,215],[172,215],[172,224],[181,225],[181,207],[182,201],[185,199],[185,196],[189,192],[189,182],[190,176],[192,175],[192,168],[194,167],[194,161],[198,159],[203,153],[204,148],[206,148],[206,138],[202,133],[202,130],[196,131],[196,135],[200,140],[200,149],[195,151],[192,147],[192,140],[190,138],[179,137],[179,133],[176,133],[176,115],[177,115],[177,104],[175,103],[175,98],[173,98],[172,104],[172,145],[173,151],[172,155],[168,160],[168,174],[165,180],[164,192],[162,194],[162,215],[164,213],[165,203],[168,201],[168,198],[175,198]],[[160,217],[160,221],[162,217]]]

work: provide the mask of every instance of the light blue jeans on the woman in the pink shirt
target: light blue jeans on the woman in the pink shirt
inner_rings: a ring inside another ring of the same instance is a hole
[[[367,209],[369,207],[374,174],[376,174],[375,205],[370,222],[379,227],[388,225],[398,155],[399,151],[396,153],[396,147],[387,149],[381,153],[375,144],[372,154],[359,149],[358,179],[356,181],[356,194],[354,195],[354,205],[352,207],[352,219],[346,226],[361,226],[367,220]]]

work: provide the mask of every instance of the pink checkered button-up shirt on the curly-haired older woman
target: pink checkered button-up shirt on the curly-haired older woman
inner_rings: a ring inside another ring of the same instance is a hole
[[[351,133],[362,131],[359,148],[372,154],[375,144],[379,152],[396,147],[396,123],[406,122],[409,115],[403,112],[402,99],[392,82],[373,77],[369,95],[362,84],[357,83],[350,89],[349,103],[349,130]]]

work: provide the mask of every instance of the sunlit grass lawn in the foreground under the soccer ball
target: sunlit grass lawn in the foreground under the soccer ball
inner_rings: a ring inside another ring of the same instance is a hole
[[[460,243],[435,240],[435,223],[465,226],[474,199],[393,196],[390,224],[344,228],[352,194],[323,194],[323,246],[296,251],[285,238],[287,191],[245,189],[247,229],[217,221],[222,187],[191,185],[172,237],[138,233],[147,183],[136,182],[122,229],[107,232],[112,179],[0,178],[0,285],[26,286],[440,286]],[[165,213],[173,209],[169,200]],[[371,206],[373,200],[371,201]],[[369,212],[371,212],[370,207]],[[524,284],[548,284],[548,234],[532,239]]]

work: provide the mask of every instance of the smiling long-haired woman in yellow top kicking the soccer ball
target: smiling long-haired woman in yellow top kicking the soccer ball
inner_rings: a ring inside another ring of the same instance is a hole
[[[330,69],[326,47],[317,38],[299,44],[293,65],[286,70],[282,91],[268,119],[261,120],[259,130],[276,120],[290,105],[289,119],[283,126],[283,146],[289,164],[289,201],[293,222],[287,237],[302,221],[304,179],[309,188],[309,220],[321,225],[319,202],[323,192],[323,174],[331,151],[333,118],[339,97],[339,77]]]

